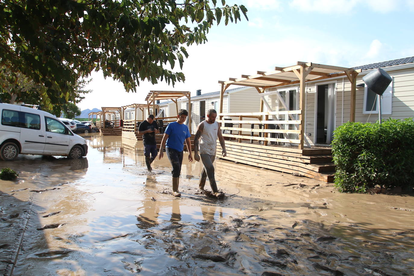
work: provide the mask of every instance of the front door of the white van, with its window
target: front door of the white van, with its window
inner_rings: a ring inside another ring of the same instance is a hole
[[[45,154],[64,155],[69,152],[69,130],[62,122],[54,118],[45,117],[46,146]]]

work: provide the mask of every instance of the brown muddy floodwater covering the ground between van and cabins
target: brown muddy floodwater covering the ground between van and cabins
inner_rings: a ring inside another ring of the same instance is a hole
[[[174,198],[166,157],[148,174],[141,142],[85,138],[81,160],[0,161],[20,175],[0,182],[2,274],[414,274],[412,195],[341,194],[217,160],[216,200],[185,155]]]

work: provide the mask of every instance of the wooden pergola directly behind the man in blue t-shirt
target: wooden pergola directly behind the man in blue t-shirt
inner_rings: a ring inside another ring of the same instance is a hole
[[[173,103],[176,104],[176,108],[178,111],[178,103],[177,100],[182,97],[188,98],[188,128],[191,133],[191,97],[190,91],[149,91],[145,101],[147,101],[147,108],[148,111],[150,110],[150,106],[152,105],[152,114],[155,115],[155,108],[156,108],[156,101],[160,100],[171,100]],[[174,116],[175,117],[175,116]],[[158,119],[171,119],[173,117],[164,117]]]

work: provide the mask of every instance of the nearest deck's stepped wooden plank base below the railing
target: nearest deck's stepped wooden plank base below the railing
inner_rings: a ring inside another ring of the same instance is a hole
[[[248,141],[226,141],[226,157],[221,156],[221,146],[217,143],[217,157],[259,168],[277,170],[333,182],[335,165],[329,147],[298,149],[295,146],[259,145]]]

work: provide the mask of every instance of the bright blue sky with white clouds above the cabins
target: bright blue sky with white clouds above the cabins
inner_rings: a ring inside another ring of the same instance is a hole
[[[220,1],[217,1],[220,2]],[[297,61],[341,67],[414,56],[414,0],[226,0],[245,5],[248,21],[224,25],[207,34],[208,42],[187,47],[185,82],[140,82],[137,93],[123,84],[91,74],[93,92],[81,110],[145,103],[150,90],[219,91],[218,81],[296,65]]]

